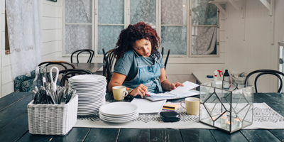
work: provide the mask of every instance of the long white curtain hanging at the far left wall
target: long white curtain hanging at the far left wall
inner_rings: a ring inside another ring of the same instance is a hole
[[[31,76],[41,62],[40,1],[6,0],[13,78]]]

